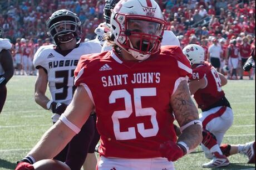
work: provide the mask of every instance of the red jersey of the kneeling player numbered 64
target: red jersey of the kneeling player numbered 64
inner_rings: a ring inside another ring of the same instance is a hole
[[[205,110],[219,101],[225,96],[221,89],[221,80],[217,70],[207,61],[204,64],[193,68],[193,76],[191,80],[206,79],[204,89],[199,89],[195,92],[194,98],[198,104],[198,108]]]

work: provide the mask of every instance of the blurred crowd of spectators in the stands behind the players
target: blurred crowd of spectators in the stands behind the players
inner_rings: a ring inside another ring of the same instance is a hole
[[[166,30],[173,31],[180,41],[181,48],[188,44],[199,44],[205,48],[207,54],[208,48],[214,42],[218,42],[223,50],[222,61],[225,60],[230,41],[235,40],[236,45],[241,47],[242,44],[250,45],[250,49],[240,49],[242,58],[248,58],[254,48],[255,1],[159,0],[157,2],[167,22]],[[81,41],[94,39],[95,28],[105,21],[103,17],[105,0],[8,0],[1,1],[0,5],[0,27],[4,30],[3,37],[10,39],[13,44],[22,43],[29,47],[26,55],[31,55],[31,58],[38,47],[53,43],[46,33],[46,20],[56,10],[69,9],[78,14],[82,22]]]

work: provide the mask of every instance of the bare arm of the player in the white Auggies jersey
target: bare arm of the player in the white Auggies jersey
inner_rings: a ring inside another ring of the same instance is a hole
[[[38,105],[47,109],[47,102],[50,101],[45,95],[48,84],[47,73],[43,68],[38,69],[38,76],[35,83],[35,101]]]

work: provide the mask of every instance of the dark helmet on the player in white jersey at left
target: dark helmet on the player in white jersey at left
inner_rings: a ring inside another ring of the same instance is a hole
[[[57,30],[60,25],[63,26],[63,30]],[[67,25],[71,25],[71,28],[67,29]],[[54,12],[46,21],[46,27],[47,34],[55,40],[56,44],[70,42],[73,38],[80,39],[81,21],[77,14],[67,9]]]

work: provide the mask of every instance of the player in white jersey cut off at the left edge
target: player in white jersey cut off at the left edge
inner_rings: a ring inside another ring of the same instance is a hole
[[[3,29],[0,27],[0,37]],[[14,73],[12,54],[9,49],[12,44],[6,38],[0,38],[0,114],[6,101],[6,84],[12,78]]]

